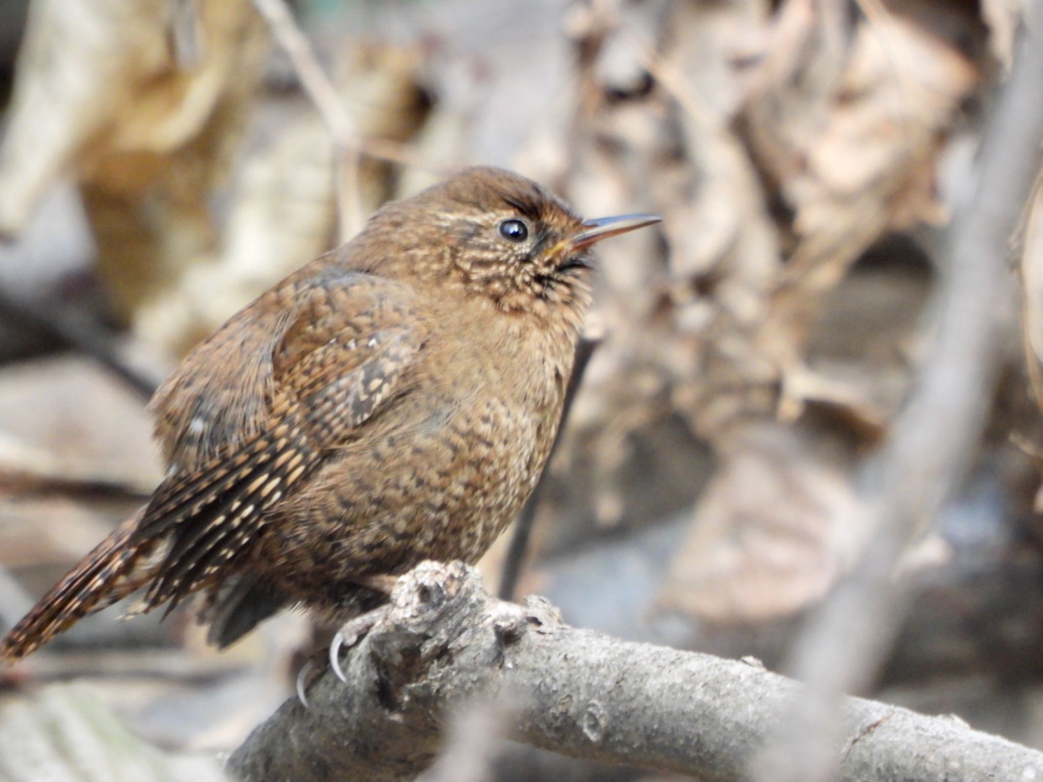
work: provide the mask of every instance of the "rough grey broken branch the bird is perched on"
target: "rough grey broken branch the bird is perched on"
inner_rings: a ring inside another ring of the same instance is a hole
[[[390,612],[330,671],[310,707],[287,702],[229,760],[244,782],[411,779],[456,707],[511,705],[516,739],[575,757],[721,781],[792,703],[791,680],[756,664],[628,643],[560,621],[539,598],[489,596],[477,572],[425,563]],[[1043,754],[947,717],[846,699],[835,747],[844,780],[1043,779]]]

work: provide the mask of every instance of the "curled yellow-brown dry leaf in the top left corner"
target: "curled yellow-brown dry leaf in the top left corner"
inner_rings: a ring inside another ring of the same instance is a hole
[[[261,74],[250,0],[34,0],[0,149],[0,231],[80,182],[120,314],[213,246],[213,184]]]

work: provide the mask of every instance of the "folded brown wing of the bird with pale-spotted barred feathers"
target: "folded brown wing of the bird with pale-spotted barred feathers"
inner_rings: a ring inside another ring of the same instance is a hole
[[[264,511],[408,388],[423,340],[408,286],[338,270],[291,277],[268,296],[282,296],[277,317],[247,308],[157,395],[156,415],[180,429],[168,438],[175,471],[138,526],[140,538],[169,541],[139,611],[212,584],[261,532]],[[261,320],[244,334],[250,318]],[[257,327],[270,331],[259,338]]]

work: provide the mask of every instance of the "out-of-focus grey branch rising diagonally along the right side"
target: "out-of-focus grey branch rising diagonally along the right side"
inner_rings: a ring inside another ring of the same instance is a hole
[[[972,461],[1016,312],[1010,261],[1040,170],[1043,104],[1029,96],[1041,79],[1043,0],[1034,0],[1023,11],[1011,76],[988,113],[979,178],[946,237],[937,339],[865,492],[872,542],[794,646],[790,669],[807,692],[754,766],[757,780],[833,778],[835,758],[825,751],[831,704],[877,675],[908,610],[895,564]]]

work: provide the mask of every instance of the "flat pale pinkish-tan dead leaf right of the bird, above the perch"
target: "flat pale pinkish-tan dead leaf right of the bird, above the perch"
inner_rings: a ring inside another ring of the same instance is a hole
[[[708,621],[786,616],[823,597],[853,563],[859,504],[848,476],[793,433],[747,433],[722,457],[661,605]]]

